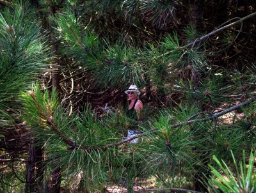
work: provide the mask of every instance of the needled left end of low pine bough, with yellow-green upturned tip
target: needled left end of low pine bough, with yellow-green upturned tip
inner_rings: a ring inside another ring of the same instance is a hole
[[[124,137],[112,127],[115,116],[107,121],[99,120],[90,107],[79,114],[69,114],[68,109],[63,111],[63,105],[58,105],[56,98],[57,93],[50,96],[47,90],[42,92],[38,84],[33,91],[22,94],[24,119],[32,128],[33,138],[38,139],[36,145],[44,147],[47,164],[58,160],[67,176],[83,171],[85,183],[98,188],[109,180],[108,173],[115,173],[113,178],[119,180],[124,173],[131,172],[127,178],[138,176],[134,174],[129,151],[122,153],[115,145],[107,148]],[[142,157],[136,162],[141,165]]]

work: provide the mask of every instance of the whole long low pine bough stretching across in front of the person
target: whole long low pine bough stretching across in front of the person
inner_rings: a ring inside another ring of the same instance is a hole
[[[181,185],[179,181],[187,176],[207,171],[205,163],[212,163],[209,155],[229,160],[223,157],[227,151],[239,155],[244,146],[243,131],[222,128],[216,121],[174,127],[199,118],[195,117],[195,105],[163,111],[150,120],[152,124],[141,125],[145,134],[135,146],[118,144],[127,124],[122,109],[101,119],[90,106],[79,114],[70,114],[58,104],[56,96],[55,92],[42,92],[38,84],[33,91],[23,93],[26,121],[33,128],[33,137],[40,139],[37,145],[44,147],[48,166],[54,159],[64,175],[83,172],[84,185],[90,189],[102,188],[110,181],[118,183],[120,179],[131,189],[135,178],[151,176],[156,176],[163,186]]]

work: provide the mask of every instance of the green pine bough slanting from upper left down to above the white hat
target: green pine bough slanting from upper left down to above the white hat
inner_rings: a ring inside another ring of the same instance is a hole
[[[99,36],[79,29],[74,15],[60,15],[58,31],[67,41],[68,56],[76,59],[79,66],[92,73],[101,86],[126,86],[127,82],[143,82],[143,65],[140,64],[140,51],[123,43],[103,45]],[[137,53],[137,54],[136,54]]]

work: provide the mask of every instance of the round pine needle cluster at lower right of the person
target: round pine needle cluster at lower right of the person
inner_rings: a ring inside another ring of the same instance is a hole
[[[193,109],[195,110],[195,109]],[[181,179],[195,173],[200,164],[200,151],[207,138],[196,138],[196,129],[188,125],[173,127],[177,122],[188,120],[193,111],[189,107],[180,111],[166,110],[161,112],[153,123],[141,144],[141,151],[145,154],[145,172],[157,176],[161,185],[180,185]],[[179,121],[178,121],[179,120]]]

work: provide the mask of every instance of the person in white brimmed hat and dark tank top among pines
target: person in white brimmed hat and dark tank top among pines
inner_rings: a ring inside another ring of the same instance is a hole
[[[140,101],[140,91],[136,85],[131,85],[129,89],[125,91],[128,95],[130,104],[128,106],[127,117],[131,120],[131,125],[127,125],[128,134],[127,138],[138,135],[138,121],[142,123],[143,120],[143,103]],[[138,143],[138,138],[130,141],[130,144]]]

